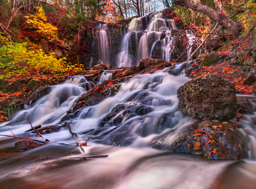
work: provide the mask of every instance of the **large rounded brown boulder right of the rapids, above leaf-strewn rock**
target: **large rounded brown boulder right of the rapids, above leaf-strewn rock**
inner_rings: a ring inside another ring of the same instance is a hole
[[[231,119],[236,115],[235,86],[217,75],[195,78],[177,90],[178,107],[196,118]]]

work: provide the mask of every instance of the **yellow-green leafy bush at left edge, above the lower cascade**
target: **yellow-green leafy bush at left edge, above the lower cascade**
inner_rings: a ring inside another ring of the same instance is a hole
[[[42,49],[29,47],[27,43],[8,43],[0,47],[0,79],[58,75],[74,70],[64,59],[56,59],[54,53],[45,54]]]

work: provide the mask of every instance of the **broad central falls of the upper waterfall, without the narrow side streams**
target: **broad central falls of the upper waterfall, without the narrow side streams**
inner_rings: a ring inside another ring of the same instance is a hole
[[[157,41],[160,40],[160,35],[165,33],[171,33],[171,30],[177,29],[174,20],[163,19],[162,13],[156,13],[146,24],[146,29],[143,29],[143,20],[146,20],[145,17],[134,18],[128,27],[128,33],[124,36],[122,41],[122,51],[119,54],[119,59],[117,65],[119,67],[125,66],[124,60],[128,60],[128,65],[134,66],[138,65],[140,59],[151,58],[152,50]],[[132,35],[134,34],[135,35]],[[171,53],[171,35],[166,34],[166,38],[162,41],[162,48],[165,49],[163,58],[166,61],[170,61]],[[131,40],[132,37],[136,37],[137,41],[138,36],[139,42],[136,43],[134,49],[131,49]],[[136,51],[134,55],[131,54],[131,51]]]

